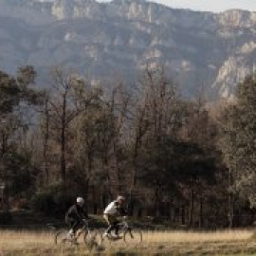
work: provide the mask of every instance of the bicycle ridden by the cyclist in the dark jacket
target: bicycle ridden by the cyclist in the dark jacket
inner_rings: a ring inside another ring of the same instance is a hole
[[[93,247],[99,249],[101,247],[102,239],[101,232],[90,229],[88,221],[83,220],[82,228],[79,229],[76,235],[70,235],[68,229],[61,229],[54,235],[55,245],[78,246],[79,239],[82,238],[83,243],[92,249]]]

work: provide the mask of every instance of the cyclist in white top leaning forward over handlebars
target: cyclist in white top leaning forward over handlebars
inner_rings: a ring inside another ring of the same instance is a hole
[[[125,198],[121,195],[117,199],[111,202],[104,210],[103,217],[107,224],[108,229],[105,231],[104,236],[113,236],[114,238],[119,237],[119,220],[118,216],[126,215],[126,210],[124,209]],[[111,234],[111,231],[115,229],[115,234]]]

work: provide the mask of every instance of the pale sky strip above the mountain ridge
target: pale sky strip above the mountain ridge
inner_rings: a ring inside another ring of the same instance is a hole
[[[99,0],[99,2],[109,2],[109,0]],[[210,10],[214,12],[226,9],[256,11],[256,0],[154,0],[152,2],[161,3],[172,8]]]

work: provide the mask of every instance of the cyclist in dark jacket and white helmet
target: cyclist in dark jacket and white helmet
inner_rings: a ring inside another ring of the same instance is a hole
[[[65,223],[69,227],[69,234],[75,237],[79,226],[82,224],[83,219],[88,219],[88,214],[82,209],[84,200],[82,197],[77,198],[77,203],[71,206],[65,213]]]

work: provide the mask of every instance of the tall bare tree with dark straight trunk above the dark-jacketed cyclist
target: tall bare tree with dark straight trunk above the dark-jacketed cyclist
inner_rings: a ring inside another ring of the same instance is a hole
[[[50,113],[50,127],[55,131],[60,145],[60,176],[66,183],[66,157],[72,121],[81,113],[76,101],[78,84],[84,81],[74,71],[56,67],[51,71],[52,91],[47,100],[47,115]],[[85,86],[85,85],[84,85]]]

